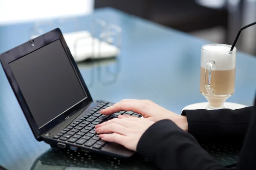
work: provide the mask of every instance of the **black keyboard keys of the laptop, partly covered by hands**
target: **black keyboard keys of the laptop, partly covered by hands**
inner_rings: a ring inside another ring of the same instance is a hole
[[[96,125],[117,118],[119,115],[141,117],[140,114],[134,113],[133,111],[119,111],[109,116],[99,113],[102,109],[110,106],[111,104],[109,104],[109,102],[102,102],[89,113],[81,116],[57,135],[53,136],[53,139],[75,143],[85,147],[93,147],[94,149],[101,149],[107,142],[100,139],[99,135],[95,132]]]

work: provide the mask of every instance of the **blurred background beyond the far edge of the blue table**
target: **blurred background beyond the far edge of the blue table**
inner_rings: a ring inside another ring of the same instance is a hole
[[[256,0],[0,0],[0,26],[81,16],[102,7],[113,7],[216,43],[232,44],[241,26],[256,21]],[[248,28],[236,47],[256,55],[255,37],[256,26]]]

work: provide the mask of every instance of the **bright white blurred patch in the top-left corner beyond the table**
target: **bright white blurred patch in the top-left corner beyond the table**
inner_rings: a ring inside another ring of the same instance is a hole
[[[93,8],[94,0],[0,0],[0,25],[86,15]]]

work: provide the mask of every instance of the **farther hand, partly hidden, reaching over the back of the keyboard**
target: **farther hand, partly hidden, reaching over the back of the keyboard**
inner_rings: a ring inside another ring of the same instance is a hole
[[[104,115],[110,115],[119,111],[134,111],[141,114],[145,119],[157,122],[163,119],[170,119],[181,129],[188,130],[188,122],[186,116],[175,114],[167,109],[151,102],[150,100],[124,99],[115,105],[101,111]],[[128,115],[120,115],[118,118],[133,117]]]

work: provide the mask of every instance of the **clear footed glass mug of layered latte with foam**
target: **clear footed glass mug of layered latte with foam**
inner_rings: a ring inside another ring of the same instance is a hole
[[[200,92],[208,101],[207,110],[224,108],[235,91],[236,47],[208,44],[202,46]]]

